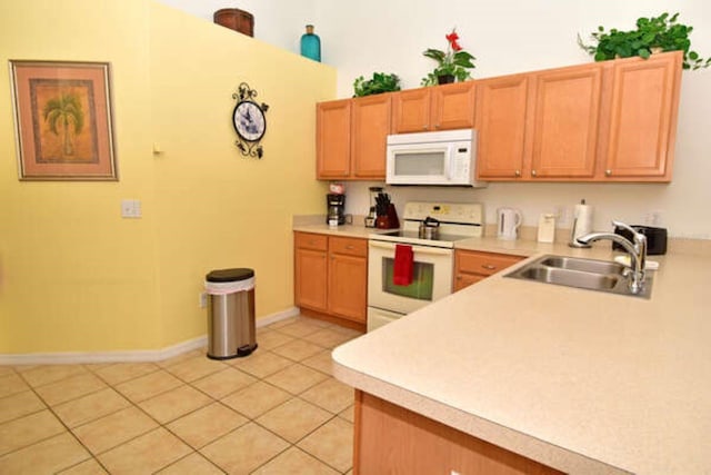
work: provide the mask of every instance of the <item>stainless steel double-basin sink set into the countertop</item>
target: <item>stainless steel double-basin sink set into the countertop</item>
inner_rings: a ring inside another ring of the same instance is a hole
[[[549,255],[504,277],[649,298],[652,289],[650,273],[647,274],[644,288],[638,294],[630,291],[628,274],[629,269],[618,263]]]

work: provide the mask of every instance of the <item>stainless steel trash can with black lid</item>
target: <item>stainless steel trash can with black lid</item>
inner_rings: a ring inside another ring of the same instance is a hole
[[[206,276],[208,357],[229,359],[257,349],[254,270],[219,269]]]

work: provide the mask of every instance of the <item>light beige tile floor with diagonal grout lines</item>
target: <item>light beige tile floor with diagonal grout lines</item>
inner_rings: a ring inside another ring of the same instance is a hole
[[[350,474],[353,389],[307,317],[246,358],[0,366],[0,474]]]

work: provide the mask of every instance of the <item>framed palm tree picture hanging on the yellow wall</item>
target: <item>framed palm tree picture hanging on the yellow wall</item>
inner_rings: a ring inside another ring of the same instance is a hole
[[[108,62],[11,60],[20,180],[118,180]]]

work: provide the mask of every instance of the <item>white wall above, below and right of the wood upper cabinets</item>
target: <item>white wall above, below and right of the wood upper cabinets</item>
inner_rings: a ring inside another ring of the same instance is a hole
[[[222,8],[211,0],[162,0],[196,14],[211,18]],[[279,3],[279,4],[278,4]],[[208,6],[210,6],[208,8]],[[711,56],[711,7],[690,0],[246,0],[240,6],[256,14],[256,36],[298,52],[303,23],[311,21],[322,41],[323,62],[339,71],[339,97],[352,95],[358,76],[394,72],[403,88],[418,87],[434,62],[421,52],[444,49],[444,34],[457,27],[460,43],[477,57],[474,78],[553,68],[590,61],[575,41],[598,24],[631,29],[639,17],[679,11],[694,27],[692,46]],[[251,10],[250,10],[251,9]],[[202,11],[202,13],[200,13]],[[263,28],[258,28],[263,24]],[[278,31],[268,29],[276,28]],[[483,190],[441,188],[390,188],[395,205],[409,199],[482,201],[487,220],[494,222],[495,208],[515,206],[524,224],[534,226],[538,215],[572,208],[581,198],[595,207],[594,227],[608,229],[611,218],[634,224],[659,211],[659,226],[672,236],[711,239],[711,70],[685,71],[677,137],[674,177],[670,185],[492,184]],[[347,209],[364,214],[368,186],[348,184]],[[569,227],[560,222],[559,227]]]

